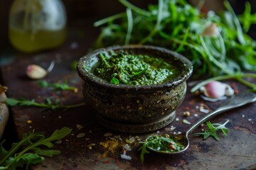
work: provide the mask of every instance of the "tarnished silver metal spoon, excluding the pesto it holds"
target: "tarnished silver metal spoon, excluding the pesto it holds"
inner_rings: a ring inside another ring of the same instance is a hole
[[[210,118],[213,118],[213,116],[218,115],[220,113],[223,113],[224,111],[229,111],[233,108],[238,108],[240,106],[244,106],[247,103],[252,103],[256,101],[256,94],[250,93],[250,92],[244,92],[237,94],[233,96],[233,98],[230,98],[228,101],[223,103],[219,108],[217,108],[215,111],[212,111],[208,113],[206,116],[198,120],[197,123],[195,123],[191,128],[189,128],[186,132],[182,132],[178,135],[176,134],[168,134],[171,139],[175,139],[176,142],[179,142],[181,145],[184,146],[184,149],[178,151],[178,152],[164,152],[152,149],[148,147],[153,152],[161,153],[161,154],[179,154],[181,152],[184,152],[189,147],[189,140],[188,140],[188,133],[194,130],[198,125],[201,125],[206,120],[209,120]],[[159,135],[160,136],[160,135]],[[163,137],[163,135],[161,135]]]

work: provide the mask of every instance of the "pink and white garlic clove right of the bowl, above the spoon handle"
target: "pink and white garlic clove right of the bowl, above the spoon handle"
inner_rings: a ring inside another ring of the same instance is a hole
[[[209,98],[220,98],[234,94],[234,90],[228,84],[223,84],[220,81],[210,81],[206,86],[202,86],[200,91]]]

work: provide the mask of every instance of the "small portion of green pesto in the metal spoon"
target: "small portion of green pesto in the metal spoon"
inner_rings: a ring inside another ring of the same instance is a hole
[[[159,152],[179,152],[185,148],[178,140],[171,139],[169,135],[166,137],[151,136],[146,138],[146,142],[146,147]]]

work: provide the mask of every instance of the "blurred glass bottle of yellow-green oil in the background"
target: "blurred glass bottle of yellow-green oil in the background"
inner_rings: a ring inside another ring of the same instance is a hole
[[[60,0],[15,0],[9,13],[9,40],[22,52],[58,47],[65,41],[66,23]]]

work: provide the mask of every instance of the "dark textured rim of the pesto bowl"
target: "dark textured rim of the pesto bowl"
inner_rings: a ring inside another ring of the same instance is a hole
[[[111,84],[108,81],[102,81],[100,77],[95,76],[95,74],[92,74],[92,72],[89,72],[85,69],[83,69],[83,65],[85,62],[90,59],[90,57],[94,57],[95,55],[99,55],[100,52],[109,52],[110,50],[132,50],[132,49],[142,49],[142,50],[155,50],[158,52],[164,52],[169,55],[172,55],[176,59],[180,60],[183,64],[186,64],[187,69],[182,70],[181,74],[179,74],[174,79],[171,79],[170,81],[164,81],[162,84],[151,84],[151,85],[140,85],[140,86],[134,86],[134,85],[126,85],[126,84]],[[139,89],[170,89],[173,86],[177,86],[178,84],[182,84],[184,81],[186,81],[193,72],[193,65],[191,61],[189,61],[186,57],[183,55],[178,54],[177,52],[168,50],[164,47],[157,47],[152,45],[114,45],[110,47],[100,48],[97,50],[94,50],[92,52],[89,52],[84,57],[81,57],[80,60],[78,60],[77,64],[77,71],[78,75],[81,77],[83,81],[89,81],[90,84],[93,84],[94,86],[100,86],[102,88],[112,89],[112,90],[125,90],[125,91],[138,91]]]

